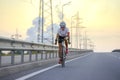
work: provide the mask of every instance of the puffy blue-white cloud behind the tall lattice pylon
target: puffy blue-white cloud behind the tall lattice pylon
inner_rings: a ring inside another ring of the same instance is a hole
[[[27,36],[28,36],[26,38],[27,41],[32,41],[32,42],[37,42],[38,41],[37,40],[37,37],[38,37],[37,35],[38,35],[38,26],[39,26],[38,23],[39,23],[39,20],[40,20],[40,22],[42,22],[42,18],[39,18],[39,17],[35,18],[33,20],[33,26],[30,27],[27,30]],[[55,35],[56,35],[57,31],[58,31],[58,28],[59,28],[58,24],[54,23],[53,24],[53,35],[54,35],[54,37],[55,37]],[[41,36],[42,36],[41,32],[42,32],[42,28],[41,28],[41,25],[40,25],[40,42],[41,42]],[[43,42],[46,43],[46,44],[51,44],[52,43],[52,24],[50,24],[47,27],[46,31],[44,31],[43,34],[44,34],[43,35],[44,36]]]

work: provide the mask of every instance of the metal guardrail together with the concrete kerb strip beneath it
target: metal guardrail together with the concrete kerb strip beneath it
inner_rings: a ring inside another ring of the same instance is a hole
[[[69,48],[67,59],[79,57],[92,50]],[[3,52],[9,54],[3,55]],[[33,69],[57,62],[58,47],[21,40],[0,37],[0,76],[6,76],[19,71]]]

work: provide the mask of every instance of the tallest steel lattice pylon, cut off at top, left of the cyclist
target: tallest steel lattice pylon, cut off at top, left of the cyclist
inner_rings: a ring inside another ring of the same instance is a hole
[[[52,0],[40,0],[39,3],[39,18],[42,17],[42,20],[39,19],[39,26],[38,26],[38,42],[40,42],[40,34],[41,34],[41,43],[44,43],[44,29],[51,25],[51,33],[52,36],[52,43],[54,42],[54,35],[53,35],[53,14],[52,14]],[[41,33],[40,33],[40,26],[41,26]]]

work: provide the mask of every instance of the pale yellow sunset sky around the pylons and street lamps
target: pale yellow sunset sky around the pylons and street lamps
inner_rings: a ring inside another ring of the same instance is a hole
[[[120,0],[53,0],[55,24],[59,24],[60,5],[69,1],[71,3],[64,7],[64,20],[68,28],[71,26],[71,16],[79,12],[80,26],[85,26],[79,31],[82,35],[86,32],[95,51],[120,49]],[[17,30],[22,36],[20,39],[26,40],[29,30],[35,28],[33,21],[39,15],[38,3],[39,0],[0,0],[0,36],[11,38]],[[75,35],[75,29],[73,30]],[[76,44],[75,36],[72,37]]]

